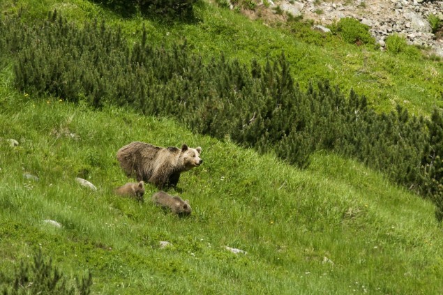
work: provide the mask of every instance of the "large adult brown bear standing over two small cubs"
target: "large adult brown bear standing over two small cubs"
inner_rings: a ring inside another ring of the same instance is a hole
[[[202,148],[163,148],[144,142],[131,142],[117,151],[117,160],[128,177],[153,183],[158,189],[177,187],[181,172],[198,167]]]

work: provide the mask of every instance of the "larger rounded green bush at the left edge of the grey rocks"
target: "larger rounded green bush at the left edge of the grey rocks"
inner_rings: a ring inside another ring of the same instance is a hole
[[[331,26],[331,31],[341,36],[350,44],[374,44],[375,39],[370,36],[369,27],[352,17],[344,17]]]

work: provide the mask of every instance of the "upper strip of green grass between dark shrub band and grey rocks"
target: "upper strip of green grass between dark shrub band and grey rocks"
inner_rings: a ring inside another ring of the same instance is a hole
[[[153,44],[177,42],[186,38],[190,47],[211,59],[224,52],[228,58],[249,64],[252,59],[264,62],[266,56],[285,52],[292,74],[301,86],[311,80],[330,80],[343,91],[354,89],[368,96],[370,103],[382,111],[396,104],[414,114],[427,115],[433,107],[442,107],[443,63],[414,54],[380,52],[373,45],[357,46],[336,36],[312,31],[299,22],[269,27],[251,22],[234,11],[217,8],[206,2],[195,7],[197,22],[158,24],[142,17],[123,19],[116,13],[85,0],[35,1],[17,0],[0,3],[3,14],[21,13],[25,20],[36,22],[57,9],[63,16],[81,24],[85,20],[106,20],[140,38],[144,25]]]

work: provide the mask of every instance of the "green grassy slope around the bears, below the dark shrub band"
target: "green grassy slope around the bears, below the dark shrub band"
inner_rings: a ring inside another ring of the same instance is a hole
[[[40,248],[63,273],[91,271],[93,294],[443,292],[433,205],[356,162],[316,153],[301,171],[170,119],[25,96],[11,89],[10,69],[1,74],[0,269],[7,275]],[[144,204],[112,195],[128,181],[115,153],[133,140],[202,146],[204,165],[172,191],[190,200],[189,218],[153,206],[151,185]],[[173,245],[162,249],[160,241]]]

